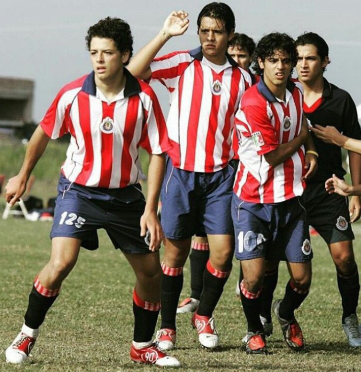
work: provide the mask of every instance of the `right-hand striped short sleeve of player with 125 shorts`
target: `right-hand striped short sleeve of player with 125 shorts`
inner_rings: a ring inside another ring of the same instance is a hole
[[[150,154],[167,152],[172,146],[168,139],[166,121],[157,96],[148,86],[142,93],[144,121],[139,145]]]

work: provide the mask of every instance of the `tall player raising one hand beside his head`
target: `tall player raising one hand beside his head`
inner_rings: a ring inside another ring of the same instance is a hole
[[[222,2],[207,4],[199,13],[199,47],[154,59],[169,39],[186,31],[187,16],[184,11],[172,12],[159,34],[130,63],[135,76],[159,81],[170,93],[167,128],[172,148],[161,191],[167,239],[162,264],[162,324],[157,337],[159,347],[166,350],[176,342],[183,265],[195,233],[207,234],[211,255],[192,324],[201,345],[218,345],[213,311],[229,276],[234,250],[230,216],[234,169],[228,165],[231,134],[234,112],[251,84],[248,73],[226,54],[235,20],[230,7]]]

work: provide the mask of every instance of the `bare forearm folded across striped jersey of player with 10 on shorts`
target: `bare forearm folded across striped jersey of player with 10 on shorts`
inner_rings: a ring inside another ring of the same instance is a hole
[[[287,143],[282,143],[276,149],[264,154],[266,161],[274,168],[290,158],[308,139],[309,130],[305,117],[302,120],[300,134]]]

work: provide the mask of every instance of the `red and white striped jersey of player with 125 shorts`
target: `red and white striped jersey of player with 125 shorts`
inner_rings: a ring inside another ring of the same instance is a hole
[[[133,185],[142,174],[138,147],[151,154],[170,147],[155,93],[124,71],[126,86],[113,102],[97,90],[92,72],[62,88],[40,123],[51,139],[70,133],[61,171],[71,182],[106,188]]]

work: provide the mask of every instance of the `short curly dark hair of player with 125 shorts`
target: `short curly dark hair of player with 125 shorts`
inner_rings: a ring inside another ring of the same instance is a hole
[[[133,54],[133,35],[126,21],[120,18],[106,17],[90,26],[85,37],[88,50],[90,50],[91,39],[95,37],[112,39],[120,52],[129,51],[129,58],[125,65],[129,63]]]

